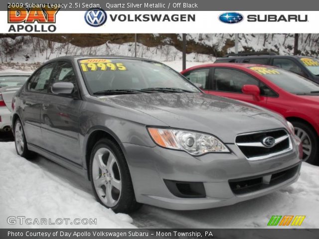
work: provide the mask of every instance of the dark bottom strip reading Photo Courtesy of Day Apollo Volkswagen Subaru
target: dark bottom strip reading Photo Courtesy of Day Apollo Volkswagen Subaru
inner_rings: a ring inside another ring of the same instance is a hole
[[[0,229],[1,239],[318,239],[318,229]]]

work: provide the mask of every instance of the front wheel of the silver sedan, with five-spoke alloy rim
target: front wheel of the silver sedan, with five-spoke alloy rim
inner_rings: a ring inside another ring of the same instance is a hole
[[[94,145],[90,180],[97,201],[115,213],[130,213],[141,207],[135,199],[125,156],[114,141],[103,138]]]

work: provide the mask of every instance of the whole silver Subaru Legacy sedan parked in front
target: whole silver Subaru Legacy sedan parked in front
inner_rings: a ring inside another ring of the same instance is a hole
[[[300,173],[302,145],[291,123],[206,95],[156,61],[56,58],[33,73],[13,107],[17,153],[39,153],[87,177],[115,212],[231,205],[284,188]]]

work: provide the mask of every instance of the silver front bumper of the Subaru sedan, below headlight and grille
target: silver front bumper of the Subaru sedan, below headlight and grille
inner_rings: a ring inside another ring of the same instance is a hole
[[[231,153],[209,153],[193,157],[186,152],[124,143],[136,200],[172,210],[196,210],[232,205],[277,191],[297,181],[301,160],[298,147],[273,158],[249,161],[235,144],[227,144]],[[230,181],[270,177],[275,172],[295,167],[294,174],[277,184],[235,194]],[[204,198],[174,196],[164,180],[202,182]]]

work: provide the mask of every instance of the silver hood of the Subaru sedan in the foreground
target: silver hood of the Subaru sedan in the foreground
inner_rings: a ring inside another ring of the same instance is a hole
[[[105,102],[143,112],[169,127],[213,134],[225,143],[234,143],[239,133],[285,127],[285,119],[276,113],[202,93],[132,94],[102,98]]]

